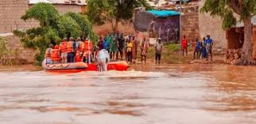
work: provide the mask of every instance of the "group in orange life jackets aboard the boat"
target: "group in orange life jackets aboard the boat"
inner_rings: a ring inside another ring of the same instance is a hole
[[[92,62],[93,44],[90,39],[64,38],[60,45],[50,44],[45,51],[46,63]]]

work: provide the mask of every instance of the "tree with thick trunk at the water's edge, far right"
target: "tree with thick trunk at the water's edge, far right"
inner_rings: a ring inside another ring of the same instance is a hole
[[[251,19],[256,14],[256,0],[205,0],[201,13],[211,13],[211,16],[222,17],[223,29],[234,26],[237,22],[235,14],[239,20],[244,22],[244,43],[242,46],[242,56],[237,65],[254,64],[252,58],[252,24]]]

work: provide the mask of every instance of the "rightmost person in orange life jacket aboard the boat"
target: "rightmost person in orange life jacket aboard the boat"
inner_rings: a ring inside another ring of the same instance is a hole
[[[93,44],[90,39],[86,39],[83,43],[83,62],[91,63],[93,54]]]

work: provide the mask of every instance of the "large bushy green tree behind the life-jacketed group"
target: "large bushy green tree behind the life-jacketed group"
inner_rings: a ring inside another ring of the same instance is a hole
[[[95,38],[92,31],[91,23],[86,18],[82,20],[76,19],[82,17],[79,13],[69,13],[60,16],[57,10],[49,3],[38,3],[28,9],[24,16],[24,21],[35,19],[39,21],[40,26],[37,28],[29,28],[26,31],[15,30],[14,35],[21,38],[24,47],[37,49],[39,53],[35,56],[38,64],[45,58],[45,50],[50,43],[59,43],[64,37],[80,37],[91,34]],[[90,38],[91,38],[90,36]]]

